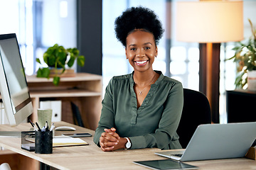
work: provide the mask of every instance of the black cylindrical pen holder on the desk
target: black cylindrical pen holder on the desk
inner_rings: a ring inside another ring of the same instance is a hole
[[[35,131],[35,153],[52,154],[53,153],[53,131]]]

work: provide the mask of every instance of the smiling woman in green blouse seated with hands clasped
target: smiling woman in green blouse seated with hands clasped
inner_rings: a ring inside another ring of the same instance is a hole
[[[164,33],[161,22],[148,8],[132,7],[116,19],[115,31],[134,72],[110,80],[94,142],[103,151],[180,149],[183,87],[152,69]]]

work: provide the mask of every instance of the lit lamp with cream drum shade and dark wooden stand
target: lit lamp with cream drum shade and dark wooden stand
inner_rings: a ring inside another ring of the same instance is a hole
[[[219,123],[216,119],[219,118],[220,79],[219,71],[218,77],[213,77],[214,70],[220,69],[220,54],[213,56],[213,47],[215,43],[220,47],[220,42],[243,40],[242,8],[242,1],[178,1],[176,4],[176,40],[206,44],[206,84],[203,84],[206,91],[203,93],[210,102],[213,123]],[[218,57],[215,68],[213,57]]]

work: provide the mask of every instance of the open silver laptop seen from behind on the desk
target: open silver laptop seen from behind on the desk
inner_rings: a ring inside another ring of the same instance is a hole
[[[256,139],[256,122],[199,125],[186,149],[156,152],[181,162],[245,157]]]

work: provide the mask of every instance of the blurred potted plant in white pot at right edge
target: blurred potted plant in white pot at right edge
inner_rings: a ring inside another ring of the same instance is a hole
[[[238,76],[235,79],[235,88],[256,90],[256,29],[253,27],[252,22],[250,26],[252,29],[252,36],[249,40],[238,42],[238,45],[233,48],[235,55],[229,60],[238,63],[237,71]]]

